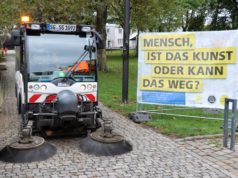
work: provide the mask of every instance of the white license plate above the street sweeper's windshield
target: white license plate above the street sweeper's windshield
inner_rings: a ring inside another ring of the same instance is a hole
[[[47,30],[54,32],[75,32],[76,25],[68,24],[47,24]]]

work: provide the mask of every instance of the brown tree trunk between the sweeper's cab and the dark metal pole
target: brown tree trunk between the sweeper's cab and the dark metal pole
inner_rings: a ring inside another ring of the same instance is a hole
[[[99,70],[108,71],[107,66],[107,53],[106,53],[106,23],[107,23],[107,9],[108,2],[107,0],[101,0],[101,3],[96,7],[97,16],[96,16],[96,30],[102,36],[102,49],[98,50],[98,59],[99,59]]]

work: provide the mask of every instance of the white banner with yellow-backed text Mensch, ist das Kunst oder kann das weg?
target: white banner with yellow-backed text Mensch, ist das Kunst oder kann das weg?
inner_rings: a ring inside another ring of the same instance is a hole
[[[237,99],[238,31],[141,33],[137,102],[224,108]]]

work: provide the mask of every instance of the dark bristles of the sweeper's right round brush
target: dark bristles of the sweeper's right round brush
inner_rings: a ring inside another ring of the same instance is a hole
[[[82,152],[96,156],[114,156],[128,153],[132,146],[125,140],[118,143],[102,143],[86,137],[80,140]]]

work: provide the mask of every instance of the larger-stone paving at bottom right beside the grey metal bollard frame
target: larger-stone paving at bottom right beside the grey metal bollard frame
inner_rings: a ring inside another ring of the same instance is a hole
[[[221,136],[217,138],[187,138],[177,139],[176,142],[180,148],[189,149],[203,159],[216,164],[214,166],[222,167],[238,177],[238,144],[236,144],[236,151],[232,151],[222,146],[222,139]]]

